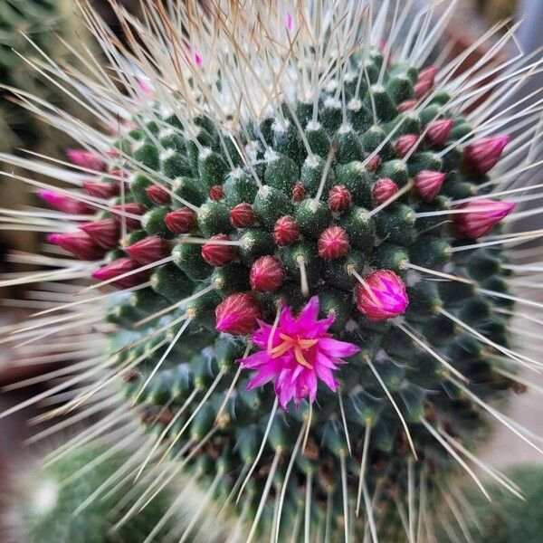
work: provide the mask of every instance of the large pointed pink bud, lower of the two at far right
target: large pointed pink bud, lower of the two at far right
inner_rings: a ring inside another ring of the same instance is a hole
[[[489,233],[515,207],[511,202],[484,198],[459,205],[464,213],[452,215],[454,230],[462,237],[475,239]]]

